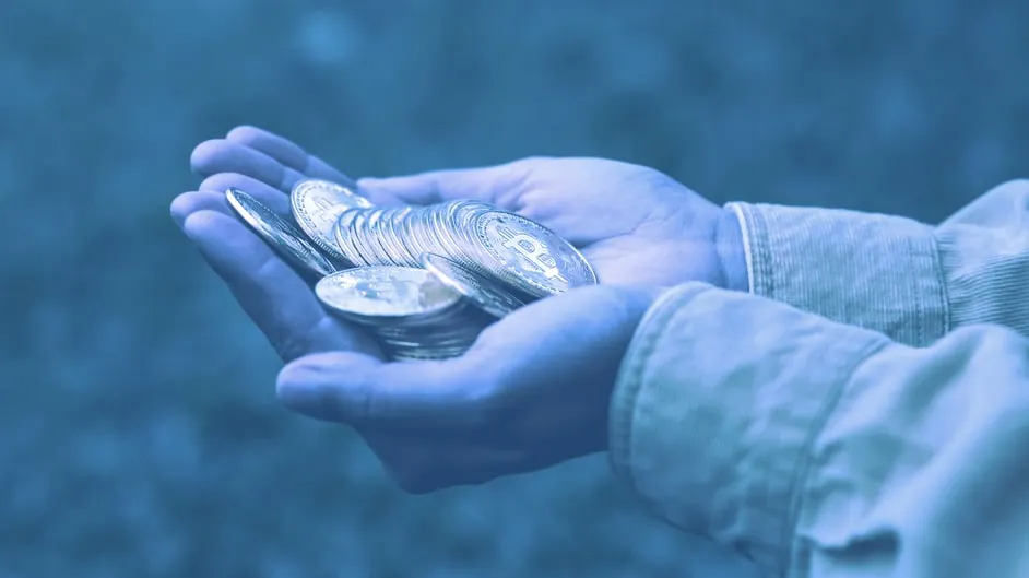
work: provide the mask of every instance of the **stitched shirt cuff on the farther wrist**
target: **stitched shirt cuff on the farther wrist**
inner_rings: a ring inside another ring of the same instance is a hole
[[[932,226],[854,211],[730,203],[752,293],[924,346],[949,330]]]

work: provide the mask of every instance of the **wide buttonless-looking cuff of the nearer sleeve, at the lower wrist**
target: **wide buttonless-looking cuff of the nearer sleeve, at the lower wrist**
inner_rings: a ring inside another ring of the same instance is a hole
[[[811,444],[854,368],[887,342],[745,293],[672,288],[620,368],[614,470],[660,516],[778,574]]]

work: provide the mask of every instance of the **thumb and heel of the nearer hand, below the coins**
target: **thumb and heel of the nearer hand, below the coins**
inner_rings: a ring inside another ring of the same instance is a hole
[[[607,448],[615,378],[655,296],[599,285],[542,299],[454,359],[308,355],[282,370],[279,396],[355,427],[411,493],[547,468]]]

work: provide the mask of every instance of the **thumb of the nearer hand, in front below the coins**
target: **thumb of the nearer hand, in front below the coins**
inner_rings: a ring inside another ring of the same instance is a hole
[[[305,415],[372,430],[469,434],[482,427],[490,371],[466,358],[382,363],[348,352],[309,355],[279,375],[279,396]]]

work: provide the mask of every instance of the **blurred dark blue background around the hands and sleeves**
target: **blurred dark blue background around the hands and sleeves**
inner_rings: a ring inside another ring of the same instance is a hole
[[[603,457],[411,497],[280,409],[273,352],[168,217],[190,150],[253,123],[354,176],[599,155],[934,222],[1029,174],[1027,23],[1025,0],[3,0],[0,578],[722,576]]]

